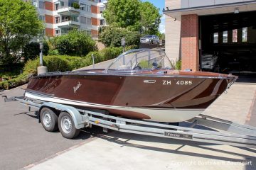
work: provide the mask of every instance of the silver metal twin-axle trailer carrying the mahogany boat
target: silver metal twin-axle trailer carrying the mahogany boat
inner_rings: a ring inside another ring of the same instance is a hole
[[[240,125],[228,120],[213,118],[208,115],[198,115],[198,117],[186,121],[186,126],[168,125],[147,120],[120,118],[118,116],[109,115],[106,111],[87,111],[59,103],[24,98],[23,96],[12,98],[7,98],[7,96],[4,97],[6,102],[20,101],[20,103],[29,107],[29,111],[31,111],[31,108],[38,109],[38,120],[42,123],[43,127],[48,131],[53,131],[53,129],[47,129],[46,124],[50,122],[55,123],[56,125],[58,124],[61,134],[66,138],[76,137],[79,134],[78,130],[81,128],[92,128],[92,125],[96,125],[102,127],[104,132],[107,132],[107,129],[110,129],[119,132],[166,137],[178,140],[191,140],[218,145],[256,148],[255,127],[250,125]],[[48,108],[48,111],[43,108]],[[49,109],[52,112],[49,112]],[[46,111],[46,114],[42,113],[43,111]],[[53,115],[49,117],[50,114]],[[40,118],[41,115],[45,117],[45,120]],[[58,122],[53,121],[53,118],[57,119]],[[201,125],[204,128],[198,129],[196,128],[198,127],[197,125]],[[67,135],[72,130],[73,133]]]

